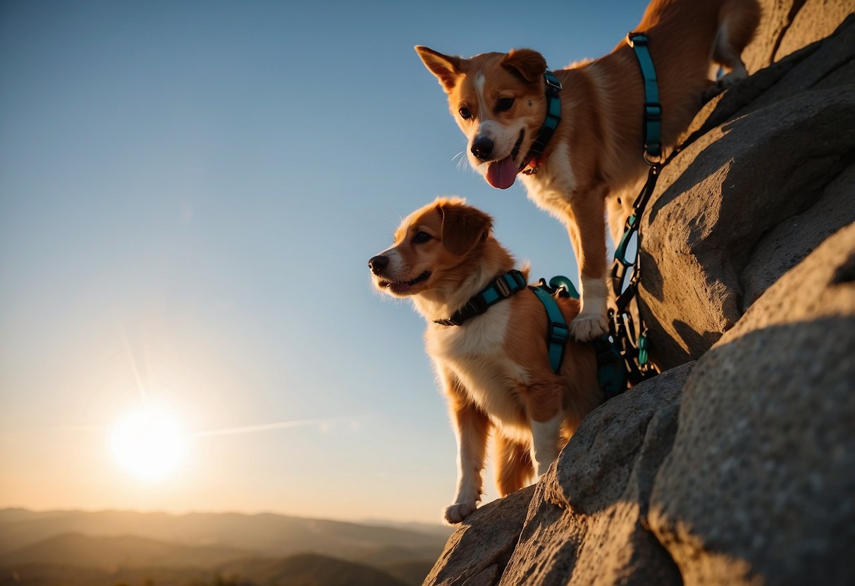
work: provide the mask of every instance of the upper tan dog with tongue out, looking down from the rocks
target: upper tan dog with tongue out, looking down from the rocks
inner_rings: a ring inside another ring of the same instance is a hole
[[[655,66],[665,151],[705,96],[746,77],[740,54],[759,14],[757,0],[652,0],[648,5],[635,31],[646,35]],[[616,237],[621,214],[628,215],[647,168],[642,157],[646,93],[634,49],[619,43],[610,54],[556,70],[554,77],[545,75],[544,57],[530,49],[469,59],[423,46],[416,52],[447,94],[451,115],[468,138],[472,167],[498,189],[507,189],[522,173],[529,198],[567,226],[581,269],[581,313],[571,332],[578,340],[603,335],[608,329],[606,207]],[[728,73],[714,82],[716,66]],[[551,128],[554,109],[560,109],[560,120]],[[547,126],[551,135],[543,130]]]

